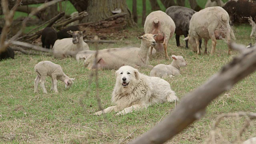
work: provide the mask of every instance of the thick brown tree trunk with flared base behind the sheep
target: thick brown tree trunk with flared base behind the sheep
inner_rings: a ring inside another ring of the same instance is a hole
[[[88,0],[88,7],[86,11],[89,15],[84,18],[82,22],[98,22],[109,18],[114,15],[112,11],[116,8],[120,8],[122,12],[127,13],[127,26],[135,25],[132,14],[126,4],[126,0]]]

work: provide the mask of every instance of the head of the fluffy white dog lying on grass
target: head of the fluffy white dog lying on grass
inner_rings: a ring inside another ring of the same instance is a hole
[[[129,86],[134,81],[139,79],[139,72],[131,66],[122,66],[116,71],[116,84],[123,87]]]

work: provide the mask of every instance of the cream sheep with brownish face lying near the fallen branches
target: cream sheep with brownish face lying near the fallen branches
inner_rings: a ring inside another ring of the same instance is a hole
[[[71,30],[67,33],[72,35],[73,38],[63,38],[56,40],[54,47],[52,48],[54,58],[65,58],[67,56],[76,56],[76,54],[82,50],[89,50],[88,44],[83,40],[83,34],[86,31],[75,31]]]

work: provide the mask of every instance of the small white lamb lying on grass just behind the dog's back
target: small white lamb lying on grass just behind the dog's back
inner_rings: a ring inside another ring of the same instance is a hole
[[[150,76],[166,77],[176,76],[180,74],[180,67],[187,66],[186,61],[182,56],[172,55],[172,63],[169,65],[158,64],[151,71]]]

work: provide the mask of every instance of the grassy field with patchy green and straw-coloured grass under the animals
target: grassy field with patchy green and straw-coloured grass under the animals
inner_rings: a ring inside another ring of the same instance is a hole
[[[200,2],[199,2],[200,1]],[[127,1],[130,8],[131,0]],[[141,5],[139,4],[138,7]],[[198,0],[200,6],[204,6],[205,0]],[[149,2],[147,0],[147,5]],[[188,4],[186,4],[188,6]],[[162,6],[161,6],[162,7]],[[70,7],[70,9],[72,9]],[[142,8],[138,8],[140,14]],[[70,11],[72,12],[72,10]],[[150,12],[148,8],[147,12]],[[249,35],[251,27],[240,25],[235,28],[236,42],[247,45],[255,41]],[[123,32],[127,43],[99,44],[100,49],[118,48],[125,46],[140,47],[137,36],[143,34],[143,28],[129,28]],[[183,37],[182,37],[183,38]],[[90,49],[96,48],[95,44],[88,43]],[[176,46],[175,38],[171,38],[168,46],[168,55],[181,55],[188,66],[181,68],[182,75],[174,78],[164,78],[170,83],[172,90],[178,98],[182,99],[188,92],[206,82],[222,66],[230,62],[238,55],[232,51],[228,55],[227,44],[218,40],[216,54],[196,55],[191,48],[186,50],[185,42],[181,40],[181,46]],[[208,52],[211,50],[211,41],[208,42]],[[46,89],[48,94],[34,94],[34,79],[36,72],[34,66],[42,61],[50,60],[62,66],[63,71],[74,80],[70,90],[65,90],[64,84],[58,81],[58,94],[50,92],[51,80],[47,78]],[[170,64],[163,55],[154,56],[150,64]],[[139,71],[148,75],[150,70],[140,68]],[[115,113],[104,116],[93,116],[98,111],[96,92],[98,90],[103,108],[112,106],[111,94],[115,84],[114,70],[99,70],[99,88],[96,88],[95,78],[89,85],[91,71],[84,68],[74,58],[57,60],[48,56],[28,56],[16,53],[15,60],[9,59],[0,62],[0,143],[120,143],[129,134],[123,143],[132,141],[158,124],[160,119],[169,110],[174,109],[174,104],[156,104],[147,110],[139,110],[125,116],[115,116]],[[212,122],[219,114],[226,112],[256,112],[256,73],[251,74],[238,82],[231,90],[220,95],[207,107],[206,115],[194,122],[180,134],[167,143],[173,144],[198,144],[208,138]],[[86,90],[89,94],[85,96]],[[83,99],[84,108],[79,104]],[[179,103],[179,102],[178,102]],[[225,118],[220,123],[216,134],[217,143],[230,143],[234,140],[239,128],[243,126],[244,118]],[[242,140],[255,137],[256,122],[242,135]]]

